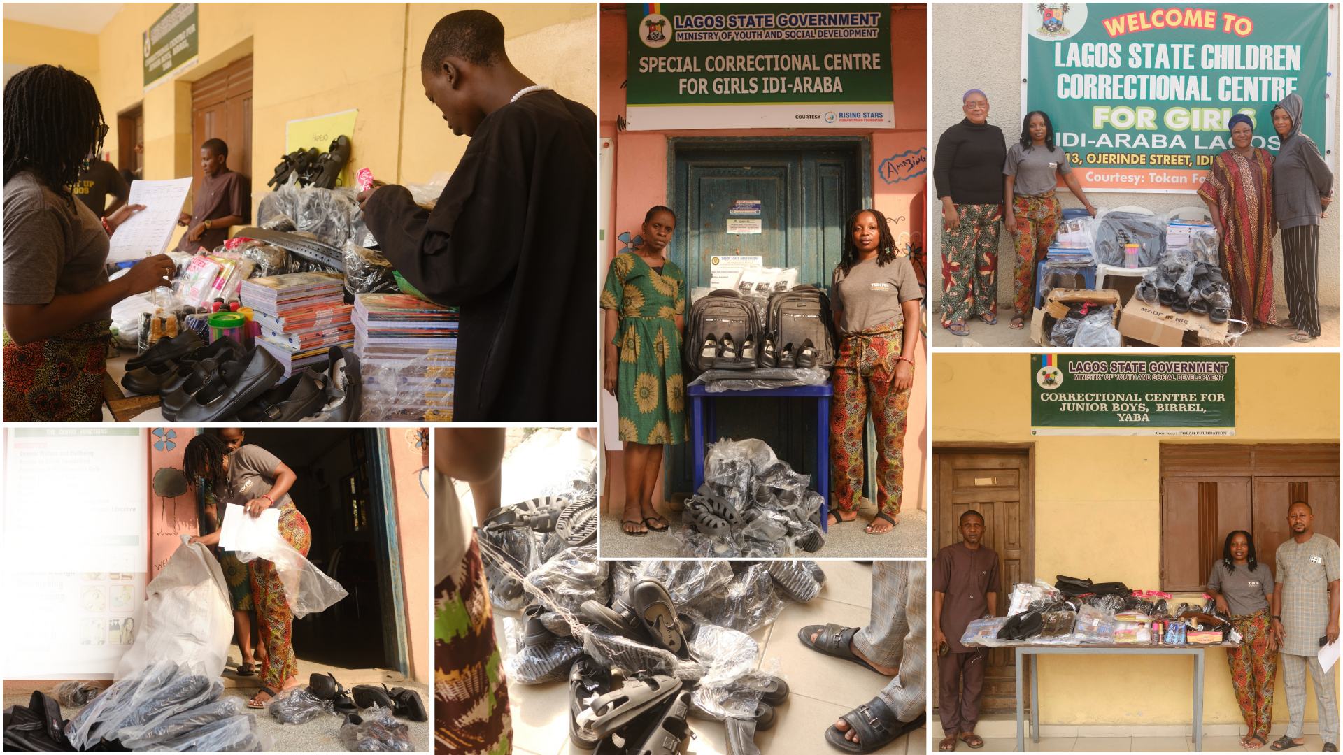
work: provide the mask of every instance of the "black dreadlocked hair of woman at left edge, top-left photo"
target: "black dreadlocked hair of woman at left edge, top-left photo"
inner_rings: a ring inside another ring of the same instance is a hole
[[[24,69],[4,86],[4,183],[32,169],[73,204],[70,185],[106,133],[89,79],[60,66]]]

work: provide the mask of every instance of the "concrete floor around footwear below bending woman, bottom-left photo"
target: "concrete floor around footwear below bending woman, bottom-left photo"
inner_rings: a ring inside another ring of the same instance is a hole
[[[261,680],[257,676],[239,677],[234,674],[238,668],[238,646],[230,646],[228,664],[224,669],[224,697],[238,697],[246,705],[247,700],[257,693],[257,688],[261,686]],[[404,680],[400,673],[391,672],[385,669],[341,669],[336,666],[326,666],[321,664],[313,664],[309,661],[298,661],[298,678],[302,684],[308,684],[308,677],[313,673],[326,673],[330,672],[337,681],[345,685],[346,689],[355,686],[356,684],[379,684],[385,682],[388,688],[404,686],[407,689],[414,689],[419,692],[420,700],[424,701],[424,708],[432,715],[434,697],[430,693],[427,684],[419,684],[415,681]],[[56,682],[52,681],[52,685]],[[50,692],[50,686],[43,689],[43,692]],[[4,692],[4,705],[27,705],[31,697],[31,691],[11,691],[5,686]],[[321,716],[306,724],[281,724],[266,711],[252,711],[247,709],[248,713],[257,715],[257,723],[262,731],[269,734],[275,740],[275,752],[344,752],[345,747],[337,739],[340,732],[342,717],[337,716]],[[60,715],[66,719],[74,719],[79,713],[79,708],[62,708]],[[410,721],[406,719],[398,719],[404,723],[411,729],[411,736],[415,738],[415,747],[419,752],[427,752],[432,744],[432,732],[430,729],[428,721]]]

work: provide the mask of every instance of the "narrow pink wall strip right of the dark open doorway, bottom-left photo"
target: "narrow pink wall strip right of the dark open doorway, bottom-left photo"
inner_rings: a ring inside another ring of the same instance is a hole
[[[402,580],[404,583],[406,622],[410,625],[411,677],[427,682],[432,676],[430,643],[430,567],[428,567],[428,496],[432,485],[428,468],[428,430],[423,427],[388,427],[392,493],[396,496],[396,529],[402,545]]]

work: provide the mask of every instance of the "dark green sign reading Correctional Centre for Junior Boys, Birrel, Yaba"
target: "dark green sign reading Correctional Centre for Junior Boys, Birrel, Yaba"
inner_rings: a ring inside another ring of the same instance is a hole
[[[1031,435],[1236,435],[1234,356],[1030,356]]]

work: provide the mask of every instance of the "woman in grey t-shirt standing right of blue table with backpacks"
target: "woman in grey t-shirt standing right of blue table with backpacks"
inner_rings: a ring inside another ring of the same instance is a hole
[[[905,411],[915,383],[923,290],[909,258],[896,257],[885,215],[860,210],[845,227],[843,261],[830,286],[841,336],[830,399],[830,524],[858,517],[862,435],[870,412],[877,430],[878,513],[866,532],[880,535],[890,532],[900,515]]]

